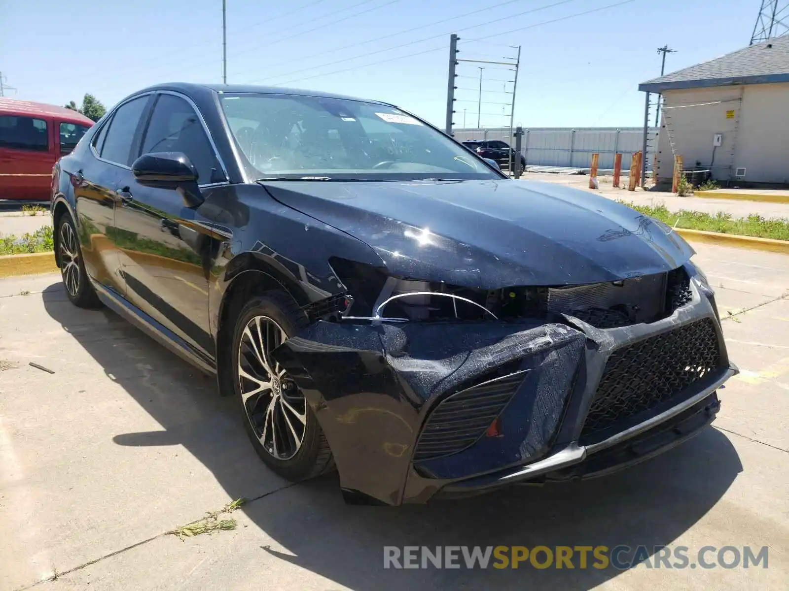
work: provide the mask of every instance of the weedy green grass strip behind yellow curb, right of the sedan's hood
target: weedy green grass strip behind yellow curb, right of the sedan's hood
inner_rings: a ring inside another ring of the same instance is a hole
[[[710,215],[701,211],[669,211],[664,205],[637,205],[626,201],[619,201],[619,203],[632,207],[634,210],[641,212],[641,214],[663,221],[672,228],[789,240],[789,219],[783,217],[765,219],[761,215],[756,214],[748,217],[732,217],[731,214],[723,211]]]

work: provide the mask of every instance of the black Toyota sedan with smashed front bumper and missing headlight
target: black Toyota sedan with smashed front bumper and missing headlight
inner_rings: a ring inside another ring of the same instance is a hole
[[[69,299],[215,374],[272,470],[336,466],[349,502],[608,473],[711,422],[736,372],[671,228],[384,102],[151,87],[52,186]]]

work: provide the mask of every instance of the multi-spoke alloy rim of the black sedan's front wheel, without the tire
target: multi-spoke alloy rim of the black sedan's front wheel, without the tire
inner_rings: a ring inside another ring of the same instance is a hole
[[[260,444],[274,458],[291,459],[301,448],[307,426],[307,401],[271,351],[287,335],[267,316],[255,316],[238,344],[241,401]]]

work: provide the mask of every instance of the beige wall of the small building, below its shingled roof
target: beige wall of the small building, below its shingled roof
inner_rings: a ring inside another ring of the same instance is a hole
[[[664,93],[656,171],[670,180],[674,154],[686,169],[711,169],[716,180],[789,182],[789,84],[695,88]],[[712,137],[723,134],[720,147]],[[735,179],[744,167],[745,177]]]

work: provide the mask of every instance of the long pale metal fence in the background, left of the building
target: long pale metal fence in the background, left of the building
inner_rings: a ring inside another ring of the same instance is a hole
[[[514,147],[510,128],[454,129],[454,138],[500,139]],[[657,147],[657,128],[649,129],[647,170],[653,167]],[[600,154],[600,169],[614,168],[614,154],[622,154],[623,173],[630,169],[630,157],[643,148],[644,130],[623,128],[523,128],[521,153],[529,167],[588,169],[592,154]]]

